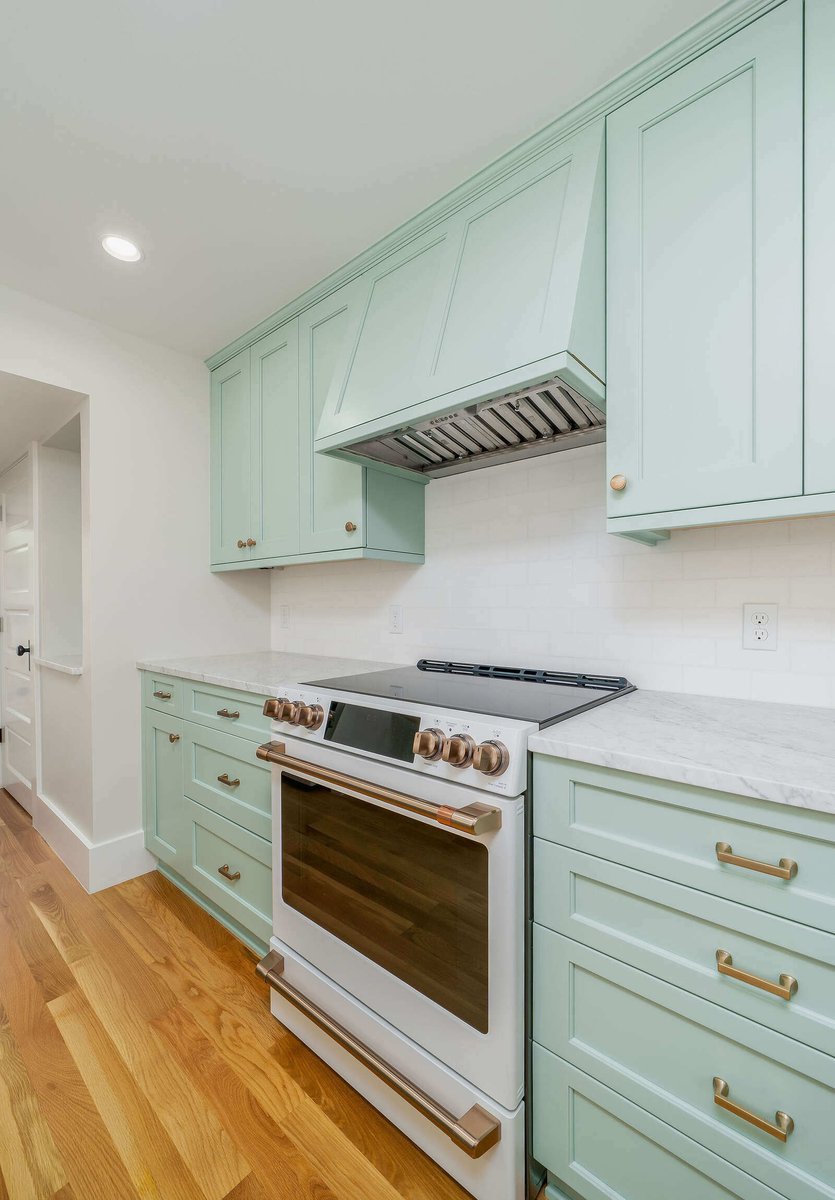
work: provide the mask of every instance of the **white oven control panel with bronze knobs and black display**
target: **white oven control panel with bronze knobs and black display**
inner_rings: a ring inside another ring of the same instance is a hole
[[[352,692],[288,688],[264,712],[282,737],[312,738],[468,787],[525,791],[528,736],[535,726]]]

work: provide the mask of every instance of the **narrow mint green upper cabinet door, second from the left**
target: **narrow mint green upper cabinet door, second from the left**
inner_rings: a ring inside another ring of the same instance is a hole
[[[252,347],[251,557],[299,553],[299,324]]]

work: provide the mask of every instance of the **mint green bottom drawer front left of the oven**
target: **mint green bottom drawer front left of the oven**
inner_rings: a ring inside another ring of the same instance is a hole
[[[188,878],[264,942],[272,934],[272,847],[269,841],[186,799]],[[232,877],[229,877],[232,876]]]

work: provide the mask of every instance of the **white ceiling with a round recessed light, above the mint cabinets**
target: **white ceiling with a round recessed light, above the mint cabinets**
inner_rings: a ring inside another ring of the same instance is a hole
[[[715,7],[7,0],[0,282],[206,355]]]

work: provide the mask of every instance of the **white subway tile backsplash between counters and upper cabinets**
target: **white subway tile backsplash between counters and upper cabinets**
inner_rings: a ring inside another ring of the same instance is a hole
[[[835,517],[606,533],[605,448],[434,480],[426,564],[272,571],[272,646],[626,674],[643,688],[835,704]],[[774,601],[776,652],[741,649],[741,606]],[[406,632],[386,632],[390,604]],[[290,629],[280,607],[290,606]]]

